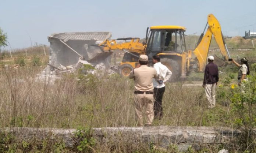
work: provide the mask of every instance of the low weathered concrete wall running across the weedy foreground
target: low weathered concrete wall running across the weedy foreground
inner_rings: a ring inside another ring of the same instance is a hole
[[[76,142],[74,137],[76,129],[15,127],[11,129],[6,128],[4,131],[14,132],[16,138],[25,141],[34,139],[43,140],[46,138],[62,139],[67,147],[73,147]],[[186,150],[192,144],[194,148],[200,148],[200,146],[206,144],[230,143],[239,134],[239,131],[234,131],[230,128],[214,127],[154,126],[92,128],[92,137],[101,144],[108,142],[118,143],[123,140],[128,143],[151,143],[167,148],[171,143],[175,143],[179,150]]]

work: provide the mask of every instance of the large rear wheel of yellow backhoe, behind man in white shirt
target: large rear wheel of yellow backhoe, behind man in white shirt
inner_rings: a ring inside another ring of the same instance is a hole
[[[171,79],[169,81],[177,81],[181,74],[179,70],[180,68],[178,61],[175,61],[173,59],[162,58],[160,62],[164,64],[172,72]]]

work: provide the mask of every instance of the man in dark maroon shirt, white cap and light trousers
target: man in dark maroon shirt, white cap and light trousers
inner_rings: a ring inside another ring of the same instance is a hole
[[[205,93],[207,100],[209,102],[208,108],[215,107],[215,88],[218,82],[218,66],[213,63],[214,57],[209,56],[208,64],[205,67],[205,75],[203,78],[203,87],[205,88]]]

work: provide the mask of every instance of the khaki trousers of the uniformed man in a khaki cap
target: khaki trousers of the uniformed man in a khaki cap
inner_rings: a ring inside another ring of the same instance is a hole
[[[134,94],[134,107],[139,126],[143,126],[142,111],[145,108],[147,124],[152,124],[154,119],[154,97],[153,94]]]

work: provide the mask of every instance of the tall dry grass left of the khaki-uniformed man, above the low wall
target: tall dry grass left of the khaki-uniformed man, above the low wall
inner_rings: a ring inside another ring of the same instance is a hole
[[[1,126],[128,126],[134,121],[127,80],[96,78],[97,86],[81,91],[74,75],[63,76],[51,85],[36,82],[35,69],[1,72]]]

